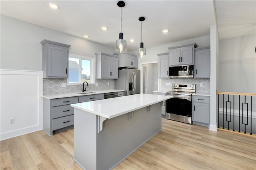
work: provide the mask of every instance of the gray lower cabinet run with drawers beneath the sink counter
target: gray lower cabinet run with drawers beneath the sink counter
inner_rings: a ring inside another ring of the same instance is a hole
[[[74,107],[70,104],[104,99],[104,94],[70,98],[43,98],[43,130],[49,135],[74,127]]]

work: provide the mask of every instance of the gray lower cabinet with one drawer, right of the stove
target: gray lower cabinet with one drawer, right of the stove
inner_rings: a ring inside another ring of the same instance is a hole
[[[193,124],[209,127],[210,97],[192,96]]]

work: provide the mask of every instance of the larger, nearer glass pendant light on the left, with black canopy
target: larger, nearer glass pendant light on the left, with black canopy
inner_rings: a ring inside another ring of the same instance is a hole
[[[124,1],[119,1],[117,6],[121,8],[121,31],[119,33],[119,39],[116,40],[116,52],[117,53],[126,53],[126,40],[123,39],[124,33],[122,33],[122,7],[125,6]]]

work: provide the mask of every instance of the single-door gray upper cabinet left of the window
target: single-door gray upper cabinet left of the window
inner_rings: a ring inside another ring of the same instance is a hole
[[[44,39],[43,78],[68,78],[68,48],[70,45]]]

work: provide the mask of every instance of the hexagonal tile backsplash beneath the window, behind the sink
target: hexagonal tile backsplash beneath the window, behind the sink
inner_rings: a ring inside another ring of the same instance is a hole
[[[86,85],[86,91],[95,91],[95,90],[109,90],[114,89],[114,80],[112,79],[96,79],[99,85],[95,84]],[[109,82],[109,85],[108,85]],[[61,84],[65,83],[66,87],[61,87]],[[65,93],[75,93],[82,92],[83,85],[67,85],[67,79],[65,78],[44,78],[43,79],[43,95],[48,94],[65,94]]]

